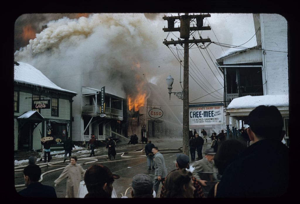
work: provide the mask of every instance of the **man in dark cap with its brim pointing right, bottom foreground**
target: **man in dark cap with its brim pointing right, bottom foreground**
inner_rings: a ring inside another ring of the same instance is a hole
[[[88,190],[85,198],[111,198],[113,182],[119,178],[119,175],[113,174],[104,165],[92,165],[86,170],[84,175],[84,182]]]

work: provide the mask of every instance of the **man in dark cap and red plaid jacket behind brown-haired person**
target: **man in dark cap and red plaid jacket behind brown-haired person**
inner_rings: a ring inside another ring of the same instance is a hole
[[[189,169],[190,168],[190,159],[187,155],[176,154],[176,157],[177,157],[176,163],[175,163],[176,169],[174,169],[173,171],[176,171],[179,169],[186,169],[186,168]],[[166,176],[166,178],[168,177],[168,175]],[[192,181],[193,181],[194,187],[196,188],[196,190],[194,191],[194,198],[204,198],[204,194],[203,194],[200,182],[193,176],[192,176]],[[160,198],[164,198],[164,182],[162,182]]]

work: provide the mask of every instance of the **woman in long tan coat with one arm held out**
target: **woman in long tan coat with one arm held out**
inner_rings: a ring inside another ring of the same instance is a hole
[[[67,190],[66,190],[66,198],[76,198],[78,194],[78,189],[80,182],[83,180],[83,176],[85,174],[85,170],[76,163],[77,157],[70,157],[70,164],[64,168],[64,171],[60,174],[58,179],[54,181],[55,187],[59,182],[67,179]]]

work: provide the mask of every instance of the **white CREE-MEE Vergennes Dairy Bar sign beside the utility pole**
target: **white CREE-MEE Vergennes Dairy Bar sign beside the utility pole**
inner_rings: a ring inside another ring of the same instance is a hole
[[[223,104],[189,105],[189,125],[223,124]]]

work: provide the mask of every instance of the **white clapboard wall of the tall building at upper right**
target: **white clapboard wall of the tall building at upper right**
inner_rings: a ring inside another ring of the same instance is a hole
[[[263,54],[267,80],[266,94],[288,94],[286,19],[278,14],[260,14],[260,23],[262,49],[266,50]]]

